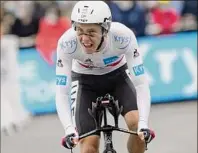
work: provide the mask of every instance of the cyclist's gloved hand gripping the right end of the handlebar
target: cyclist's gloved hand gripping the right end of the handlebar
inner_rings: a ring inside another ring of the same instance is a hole
[[[146,143],[150,143],[155,138],[155,133],[150,129],[140,129],[138,136]]]

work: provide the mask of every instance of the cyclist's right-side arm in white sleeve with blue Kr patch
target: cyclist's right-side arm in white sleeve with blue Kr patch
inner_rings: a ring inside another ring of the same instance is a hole
[[[135,50],[136,53],[135,53]],[[148,128],[151,97],[147,74],[144,70],[141,51],[139,50],[137,39],[131,31],[131,43],[125,52],[130,77],[137,92],[137,105],[139,110],[139,128]]]

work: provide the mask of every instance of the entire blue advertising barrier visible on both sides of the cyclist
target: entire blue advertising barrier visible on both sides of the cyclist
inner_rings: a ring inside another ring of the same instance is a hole
[[[196,32],[138,39],[152,103],[197,99],[196,41]],[[21,50],[19,62],[24,106],[32,114],[55,112],[55,65],[35,49]]]

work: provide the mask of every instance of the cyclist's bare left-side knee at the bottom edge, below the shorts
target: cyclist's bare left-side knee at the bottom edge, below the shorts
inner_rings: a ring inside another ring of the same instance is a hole
[[[80,141],[81,153],[98,153],[99,136],[89,136]]]

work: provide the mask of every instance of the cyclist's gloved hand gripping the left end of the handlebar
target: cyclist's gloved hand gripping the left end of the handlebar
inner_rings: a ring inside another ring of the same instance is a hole
[[[73,128],[66,133],[65,137],[62,138],[62,146],[67,149],[72,149],[78,144],[78,141],[79,141],[78,133]]]

